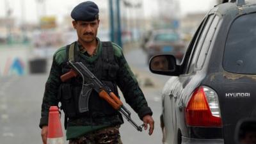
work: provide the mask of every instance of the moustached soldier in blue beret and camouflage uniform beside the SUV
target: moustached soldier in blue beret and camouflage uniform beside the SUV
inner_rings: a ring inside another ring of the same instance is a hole
[[[77,31],[78,40],[61,47],[54,53],[52,67],[45,84],[42,102],[40,128],[42,140],[46,144],[47,122],[50,106],[58,106],[65,113],[67,140],[70,144],[122,143],[119,127],[124,123],[122,116],[108,102],[101,99],[92,90],[89,99],[89,111],[79,113],[78,100],[81,92],[81,77],[74,77],[62,83],[60,76],[70,70],[68,60],[84,63],[104,84],[118,94],[117,86],[122,91],[125,101],[143,120],[148,134],[154,130],[152,111],[141,92],[122,49],[112,42],[101,42],[97,38],[99,28],[99,8],[92,1],[78,4],[71,12],[72,24]]]

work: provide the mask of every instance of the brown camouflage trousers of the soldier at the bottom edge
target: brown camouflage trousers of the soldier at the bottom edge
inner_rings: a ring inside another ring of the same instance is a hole
[[[69,140],[69,144],[122,144],[119,127],[108,127],[95,132],[90,132],[80,138]]]

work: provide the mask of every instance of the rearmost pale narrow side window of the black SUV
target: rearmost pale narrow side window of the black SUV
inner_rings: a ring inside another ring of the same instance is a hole
[[[204,61],[205,61],[205,58],[207,56],[207,52],[209,50],[209,47],[211,45],[211,42],[212,42],[212,37],[216,31],[216,27],[218,25],[218,22],[220,21],[220,17],[218,15],[216,15],[214,17],[214,19],[212,20],[212,24],[209,28],[209,31],[207,33],[207,35],[205,36],[205,39],[204,39],[204,42],[202,44],[202,47],[200,49],[200,54],[198,56],[198,60],[196,62],[196,69],[201,69],[202,66],[204,65]]]

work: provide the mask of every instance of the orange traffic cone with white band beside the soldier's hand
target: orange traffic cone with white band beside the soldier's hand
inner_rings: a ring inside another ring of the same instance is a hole
[[[48,120],[47,144],[63,144],[60,113],[57,106],[51,106]]]

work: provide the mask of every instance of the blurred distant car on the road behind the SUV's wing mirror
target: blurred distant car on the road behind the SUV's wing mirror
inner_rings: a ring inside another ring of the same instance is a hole
[[[177,60],[182,60],[185,51],[185,44],[180,34],[173,29],[157,29],[150,33],[144,47],[147,58],[156,54],[173,54]]]

